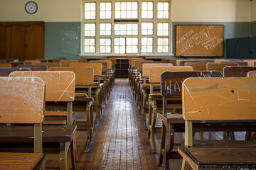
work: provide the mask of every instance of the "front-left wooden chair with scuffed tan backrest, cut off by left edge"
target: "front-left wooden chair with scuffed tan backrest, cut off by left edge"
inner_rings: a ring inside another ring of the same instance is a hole
[[[46,85],[43,79],[39,77],[0,77],[0,123],[16,123],[16,128],[21,129],[23,129],[21,124],[33,125],[32,131],[30,131],[33,136],[33,138],[31,137],[33,152],[38,153],[0,152],[0,169],[19,169],[21,167],[26,169],[29,165],[31,169],[33,167],[44,169],[45,157],[41,153],[43,153],[42,123],[44,120],[45,90]],[[10,140],[12,135],[18,132],[11,126],[3,125],[0,125],[0,131],[1,134],[8,135]],[[4,139],[1,137],[0,140],[3,141]],[[18,143],[18,141],[16,142]],[[20,159],[19,157],[23,158]],[[39,162],[40,164],[38,164]]]

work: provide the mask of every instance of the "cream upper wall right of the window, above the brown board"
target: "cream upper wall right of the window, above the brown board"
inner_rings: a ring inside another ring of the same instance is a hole
[[[174,22],[250,22],[249,0],[172,0],[172,10]]]

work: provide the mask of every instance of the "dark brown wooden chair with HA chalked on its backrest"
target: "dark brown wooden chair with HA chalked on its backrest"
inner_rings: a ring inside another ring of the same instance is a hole
[[[161,96],[163,96],[163,114],[159,114],[162,120],[161,148],[159,153],[159,165],[169,169],[169,159],[181,158],[174,143],[174,132],[184,132],[184,120],[181,114],[168,114],[168,104],[172,101],[181,103],[182,82],[188,77],[223,77],[220,72],[193,71],[193,72],[163,72],[161,74]],[[166,145],[166,131],[168,143]],[[202,138],[202,137],[201,137]],[[164,162],[163,162],[164,161]]]

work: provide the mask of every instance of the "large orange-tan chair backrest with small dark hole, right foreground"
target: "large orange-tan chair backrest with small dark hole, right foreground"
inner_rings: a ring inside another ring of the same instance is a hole
[[[256,120],[256,78],[188,78],[184,120]]]

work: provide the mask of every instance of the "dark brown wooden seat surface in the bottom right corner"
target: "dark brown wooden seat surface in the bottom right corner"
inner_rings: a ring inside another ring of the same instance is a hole
[[[256,169],[255,147],[178,147],[193,169]]]

